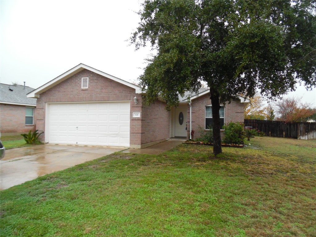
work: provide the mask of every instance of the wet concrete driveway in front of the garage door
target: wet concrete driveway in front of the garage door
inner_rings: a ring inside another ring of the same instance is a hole
[[[6,150],[5,157],[0,161],[0,189],[125,149],[45,144]]]

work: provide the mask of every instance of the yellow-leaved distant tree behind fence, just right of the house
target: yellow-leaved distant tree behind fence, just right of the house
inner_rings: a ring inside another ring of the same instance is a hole
[[[260,94],[255,94],[250,98],[250,103],[247,105],[245,111],[245,119],[264,119],[263,100]]]

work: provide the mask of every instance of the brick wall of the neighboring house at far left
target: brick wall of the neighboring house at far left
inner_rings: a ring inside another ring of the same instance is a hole
[[[35,108],[35,107],[34,107]],[[25,125],[25,106],[0,104],[0,131],[1,133],[26,133],[36,130],[36,109],[34,109],[34,125]]]

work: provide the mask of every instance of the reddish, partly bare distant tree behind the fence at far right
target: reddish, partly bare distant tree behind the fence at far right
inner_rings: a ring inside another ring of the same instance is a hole
[[[315,113],[308,103],[301,103],[302,98],[289,97],[274,103],[277,120],[286,122],[305,122]]]

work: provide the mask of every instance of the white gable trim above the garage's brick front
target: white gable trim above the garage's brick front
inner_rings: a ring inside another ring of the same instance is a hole
[[[72,69],[66,71],[65,73],[63,73],[62,75],[56,77],[55,79],[53,79],[52,81],[50,82],[47,82],[46,84],[40,86],[39,88],[33,90],[32,92],[30,92],[29,94],[27,94],[27,97],[31,97],[31,98],[39,98],[40,97],[40,94],[45,92],[46,90],[56,86],[57,84],[59,84],[60,82],[63,82],[64,80],[68,79],[70,76],[73,76],[75,75],[76,73],[84,70],[84,69],[87,69],[89,71],[92,71],[94,73],[97,73],[101,76],[105,76],[115,82],[119,82],[121,84],[124,84],[125,86],[129,86],[131,88],[134,88],[135,89],[135,93],[141,93],[142,90],[139,86],[136,86],[130,82],[126,82],[122,79],[119,79],[115,76],[112,76],[112,75],[109,75],[105,72],[102,72],[100,70],[97,70],[95,68],[92,68],[92,67],[89,67],[88,65],[85,65],[85,64],[78,64],[76,67],[73,67]]]

